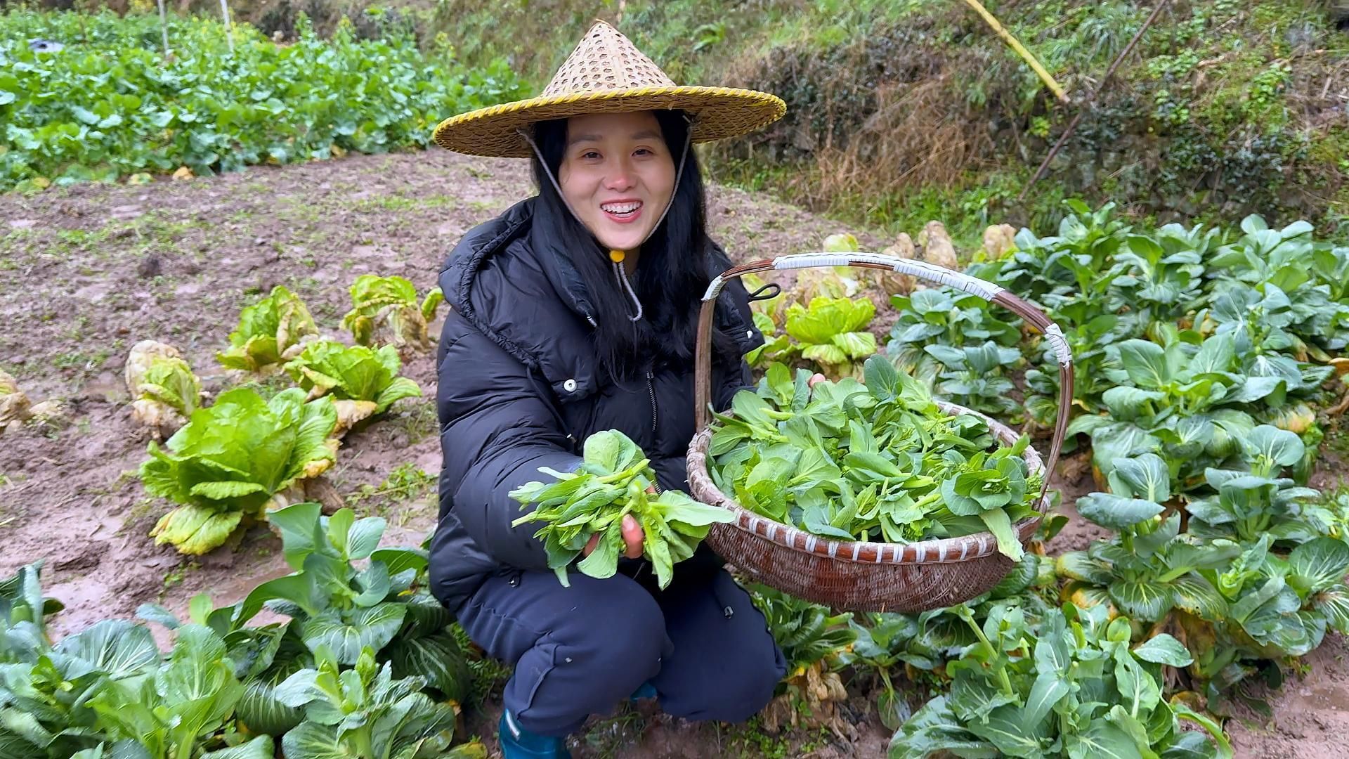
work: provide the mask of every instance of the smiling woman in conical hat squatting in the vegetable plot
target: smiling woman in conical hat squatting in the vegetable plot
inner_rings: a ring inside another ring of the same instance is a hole
[[[661,488],[685,489],[693,435],[693,332],[712,276],[693,142],[780,117],[772,95],[674,86],[596,23],[541,97],[448,119],[451,150],[532,157],[538,196],[469,231],[440,284],[437,405],[444,467],[432,582],[490,655],[515,666],[505,691],[507,759],[567,756],[565,736],[625,697],[665,712],[742,721],[785,674],[762,614],[703,546],[657,590],[631,517],[619,574],[563,587],[537,525],[507,493],[540,467],[580,463],[585,438],[619,429]],[[728,286],[712,340],[715,402],[751,382],[762,340],[743,288]],[[594,546],[594,542],[591,543]]]

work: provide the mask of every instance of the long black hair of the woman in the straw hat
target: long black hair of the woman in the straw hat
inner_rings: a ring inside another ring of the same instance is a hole
[[[689,124],[679,111],[653,113],[677,170]],[[556,177],[567,149],[567,120],[536,124],[534,140]],[[669,213],[642,243],[634,288],[645,315],[637,321],[629,319],[634,307],[614,277],[608,250],[567,208],[537,155],[533,167],[538,203],[557,220],[553,234],[571,255],[598,312],[594,339],[603,369],[615,380],[627,380],[653,359],[691,366],[700,298],[711,281],[708,271],[730,266],[707,234],[703,172],[692,146],[684,158],[684,173],[674,188]],[[724,367],[739,362],[730,335],[714,330],[712,338],[715,365]]]

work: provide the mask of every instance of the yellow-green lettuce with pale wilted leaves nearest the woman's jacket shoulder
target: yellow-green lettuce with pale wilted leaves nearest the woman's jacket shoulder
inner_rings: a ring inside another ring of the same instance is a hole
[[[434,319],[445,296],[432,289],[417,301],[417,288],[405,277],[362,274],[351,286],[352,309],[341,325],[362,346],[394,346],[403,350],[429,350],[426,323]]]

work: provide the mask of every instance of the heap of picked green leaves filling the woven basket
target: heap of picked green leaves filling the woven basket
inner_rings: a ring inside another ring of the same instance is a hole
[[[1013,524],[1035,515],[1029,444],[997,446],[985,419],[946,413],[885,358],[851,378],[769,369],[716,415],[712,479],[742,506],[838,540],[912,543],[989,531],[1020,559]]]

